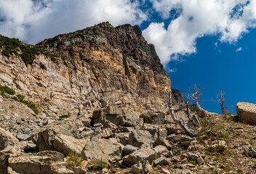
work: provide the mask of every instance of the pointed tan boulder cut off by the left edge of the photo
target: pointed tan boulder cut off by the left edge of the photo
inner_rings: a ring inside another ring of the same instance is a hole
[[[3,128],[0,128],[0,151],[5,149],[7,146],[15,146],[19,143],[12,133],[7,132]]]

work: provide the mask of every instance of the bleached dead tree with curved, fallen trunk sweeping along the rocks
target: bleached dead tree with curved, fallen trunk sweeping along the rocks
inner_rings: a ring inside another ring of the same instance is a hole
[[[193,132],[190,128],[188,128],[188,126],[185,124],[185,120],[183,119],[183,117],[181,117],[181,120],[177,119],[177,117],[175,117],[175,112],[174,112],[174,109],[173,109],[173,103],[172,103],[172,94],[169,93],[169,112],[172,116],[172,120],[175,121],[175,123],[179,124],[180,127],[185,131],[185,133],[188,135],[188,136],[196,136],[198,135],[199,133],[202,133],[204,132],[205,130],[211,128],[212,126],[215,125],[215,123],[212,123],[212,125],[210,125],[209,127],[205,128],[204,130],[201,130],[199,132]],[[188,116],[189,117],[189,116]]]

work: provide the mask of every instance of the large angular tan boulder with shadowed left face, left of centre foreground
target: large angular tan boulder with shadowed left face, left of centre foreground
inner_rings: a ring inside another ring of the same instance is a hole
[[[57,151],[65,156],[69,153],[80,154],[87,140],[73,136],[83,126],[80,120],[62,120],[33,130],[31,138],[39,151]]]

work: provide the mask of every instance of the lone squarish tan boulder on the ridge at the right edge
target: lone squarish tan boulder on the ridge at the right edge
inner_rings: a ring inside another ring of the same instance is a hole
[[[236,113],[242,123],[256,125],[256,104],[239,102],[236,104]]]

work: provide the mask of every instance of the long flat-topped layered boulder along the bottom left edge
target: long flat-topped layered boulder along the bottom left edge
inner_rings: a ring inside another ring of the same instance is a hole
[[[9,157],[9,167],[20,174],[73,174],[73,171],[66,168],[63,154],[52,151]]]

